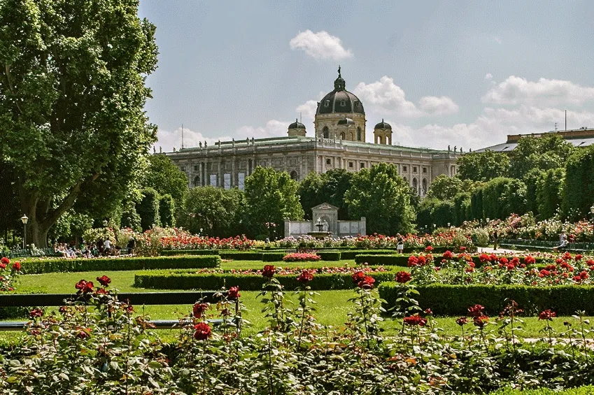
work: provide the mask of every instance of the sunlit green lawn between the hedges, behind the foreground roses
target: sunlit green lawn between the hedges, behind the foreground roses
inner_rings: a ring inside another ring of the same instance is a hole
[[[262,262],[258,262],[261,264]],[[244,262],[246,266],[253,264],[253,262]],[[237,268],[237,265],[234,266]],[[76,292],[74,284],[78,280],[95,280],[95,278],[101,275],[108,275],[112,282],[111,288],[118,289],[120,292],[168,292],[168,290],[160,289],[143,289],[133,287],[135,271],[115,271],[115,272],[82,272],[82,273],[46,273],[39,275],[23,275],[20,278],[20,286],[22,287],[45,287],[50,293],[73,293]],[[241,301],[246,306],[247,311],[243,315],[244,318],[251,322],[253,328],[250,332],[260,331],[266,326],[266,319],[262,314],[262,303],[256,298],[258,292],[255,291],[241,291]],[[320,324],[332,325],[334,327],[343,326],[347,320],[347,313],[353,310],[353,303],[348,302],[348,299],[355,296],[355,292],[352,290],[346,291],[320,291],[318,295],[314,296],[313,299],[317,302],[316,304],[316,319]],[[297,308],[297,298],[295,294],[288,293],[285,296],[288,301],[288,306]],[[290,304],[290,302],[293,304]],[[146,313],[153,319],[176,319],[183,317],[190,313],[190,306],[178,305],[178,306],[136,306],[137,313]],[[460,326],[455,324],[457,317],[437,317],[437,326],[444,329],[446,335],[458,335],[460,334]],[[594,322],[594,319],[591,317]],[[525,331],[518,333],[518,336],[523,337],[541,337],[544,336],[542,328],[545,323],[539,321],[537,317],[523,317],[525,322]],[[566,330],[563,322],[567,320],[572,322],[574,327],[577,326],[577,322],[572,317],[558,317],[553,319],[551,325],[556,333],[563,333]],[[493,317],[495,321],[495,317]],[[395,333],[402,327],[400,320],[393,320],[387,318],[382,323],[386,333]],[[489,331],[496,333],[496,325],[488,326]],[[472,324],[465,326],[465,331],[472,331],[474,327]],[[5,336],[5,333],[0,333],[0,337]],[[558,335],[559,336],[559,335]]]

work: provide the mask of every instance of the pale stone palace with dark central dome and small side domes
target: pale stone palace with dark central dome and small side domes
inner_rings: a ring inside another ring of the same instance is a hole
[[[460,152],[393,145],[392,127],[383,120],[373,129],[374,143],[366,143],[363,103],[346,90],[340,67],[338,73],[334,90],[318,103],[310,136],[305,125],[295,120],[289,125],[287,136],[219,141],[215,145],[205,142],[166,155],[188,175],[190,187],[214,185],[243,189],[246,177],[257,166],[286,171],[292,179],[300,181],[310,171],[325,173],[332,168],[359,171],[387,162],[395,164],[409,185],[425,196],[437,175],[455,175],[455,161]]]

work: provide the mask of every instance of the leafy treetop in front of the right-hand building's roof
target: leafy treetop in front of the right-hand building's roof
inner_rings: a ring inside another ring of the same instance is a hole
[[[557,134],[520,138],[518,146],[510,153],[509,176],[524,178],[533,169],[542,171],[565,167],[567,158],[576,148]]]

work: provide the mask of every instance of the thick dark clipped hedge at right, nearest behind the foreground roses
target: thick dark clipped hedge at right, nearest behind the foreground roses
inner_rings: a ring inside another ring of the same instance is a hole
[[[386,301],[386,308],[395,306],[402,285],[383,282],[379,295]],[[488,315],[496,316],[513,299],[527,315],[538,315],[551,309],[557,315],[573,315],[576,311],[594,314],[594,286],[556,285],[531,287],[527,285],[446,285],[431,284],[416,287],[413,296],[420,308],[431,308],[437,315],[466,315],[468,308],[478,303]]]

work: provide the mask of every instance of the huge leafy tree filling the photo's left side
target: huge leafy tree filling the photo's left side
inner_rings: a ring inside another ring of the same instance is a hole
[[[155,27],[138,1],[0,2],[0,155],[34,243],[75,203],[108,213],[155,141]]]

